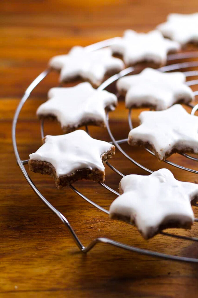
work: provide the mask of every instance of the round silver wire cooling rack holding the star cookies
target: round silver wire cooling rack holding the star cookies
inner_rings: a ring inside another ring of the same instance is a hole
[[[87,46],[86,49],[88,51],[93,51],[96,49],[100,49],[106,46],[110,46],[111,44],[113,44],[116,41],[116,38],[111,38],[108,39],[106,41],[101,41],[99,43],[96,44],[92,44],[90,46]],[[181,60],[181,59],[186,59],[186,58],[198,58],[198,52],[186,52],[186,53],[179,53],[179,54],[174,54],[174,55],[168,55],[167,60],[171,61],[171,60]],[[173,71],[173,70],[182,70],[185,68],[194,68],[198,66],[198,61],[188,61],[188,62],[182,62],[182,63],[176,63],[176,64],[172,64],[172,65],[168,65],[168,66],[164,66],[159,68],[160,71],[162,72],[168,72],[168,71]],[[109,79],[107,79],[104,83],[102,83],[98,90],[103,90],[105,88],[107,88],[108,86],[110,86],[112,83],[114,83],[116,80],[118,80],[120,77],[123,77],[124,75],[128,75],[128,74],[133,74],[135,72],[136,68],[135,67],[129,67],[127,69],[124,69],[123,71],[121,71],[120,73],[110,77]],[[145,254],[145,255],[150,255],[152,257],[159,257],[159,258],[164,258],[164,259],[170,259],[170,260],[177,260],[177,261],[184,261],[184,262],[191,262],[191,263],[198,263],[198,259],[196,258],[191,258],[191,257],[182,257],[182,256],[177,256],[177,255],[172,255],[172,254],[164,254],[164,253],[160,253],[160,252],[156,252],[156,251],[151,251],[151,250],[146,250],[146,249],[142,249],[139,247],[135,247],[135,246],[130,246],[124,243],[120,243],[117,242],[115,240],[109,239],[109,238],[104,238],[104,237],[99,237],[94,239],[93,241],[91,241],[91,243],[88,244],[88,246],[83,246],[83,244],[81,243],[80,239],[77,237],[75,231],[72,229],[72,226],[69,224],[69,221],[66,219],[66,217],[61,214],[61,212],[59,212],[55,207],[53,207],[52,204],[50,204],[49,201],[47,201],[47,199],[40,193],[40,191],[38,190],[38,188],[35,186],[34,182],[31,180],[31,178],[28,176],[28,173],[26,171],[26,168],[24,167],[24,164],[28,163],[28,160],[21,160],[20,155],[18,153],[18,148],[17,148],[17,143],[16,143],[16,125],[17,125],[17,121],[18,121],[18,117],[20,114],[21,109],[23,108],[24,103],[26,102],[26,100],[28,99],[28,97],[30,96],[31,92],[33,91],[33,89],[49,74],[50,69],[45,70],[44,72],[42,72],[30,85],[29,87],[26,89],[22,99],[20,100],[20,103],[15,111],[15,115],[13,118],[13,124],[12,124],[12,142],[13,142],[13,147],[14,147],[14,152],[15,152],[15,156],[17,159],[17,163],[23,173],[23,175],[25,176],[26,180],[28,181],[29,185],[32,187],[32,189],[34,190],[34,192],[38,195],[38,197],[43,201],[43,203],[45,203],[47,205],[48,208],[51,209],[51,211],[53,211],[58,218],[63,222],[63,224],[68,228],[70,234],[72,235],[76,245],[78,246],[78,248],[80,249],[81,252],[86,253],[88,251],[90,251],[97,243],[107,243],[113,246],[116,246],[118,248],[121,249],[126,249],[126,250],[130,250],[133,252],[137,252],[140,254]],[[198,71],[197,70],[191,70],[191,71],[187,71],[184,72],[184,74],[186,75],[186,77],[195,77],[198,76]],[[188,86],[193,86],[193,85],[197,85],[198,84],[198,80],[191,80],[191,81],[187,81],[186,84]],[[197,96],[198,95],[198,91],[194,91],[194,95]],[[193,106],[191,104],[188,104],[189,107],[191,107],[191,114],[194,114],[197,109],[198,109],[198,104]],[[132,129],[132,121],[131,121],[131,110],[129,110],[129,114],[128,114],[128,123],[129,123],[129,129]],[[121,144],[123,143],[127,143],[127,139],[120,139],[120,140],[115,140],[111,129],[110,129],[110,125],[109,125],[109,114],[107,112],[106,114],[106,128],[108,131],[108,134],[111,138],[111,143],[114,144],[119,151],[121,151],[121,153],[132,163],[134,163],[137,167],[140,167],[141,169],[145,170],[145,172],[147,173],[152,173],[152,171],[150,169],[147,169],[146,167],[142,166],[141,164],[139,164],[138,162],[136,162],[134,159],[132,159],[122,148],[121,148]],[[87,133],[89,133],[88,131],[88,127],[86,126],[86,131]],[[44,134],[44,122],[43,120],[41,120],[41,137],[43,138],[45,136]],[[149,153],[151,153],[152,155],[154,155],[154,153],[149,150],[148,148],[145,148],[145,150],[147,150]],[[183,156],[185,156],[188,159],[193,160],[194,162],[198,162],[198,159],[190,156],[188,154],[182,154]],[[179,169],[185,170],[185,171],[189,171],[195,174],[198,174],[197,170],[194,169],[190,169],[187,167],[183,167],[182,165],[179,164],[175,164],[169,160],[164,160],[165,163],[170,164],[173,167],[177,167]],[[107,166],[109,166],[115,173],[117,173],[119,176],[124,177],[124,174],[121,173],[118,169],[116,169],[115,167],[113,167],[113,165],[111,165],[109,162],[106,163]],[[109,187],[108,185],[104,184],[104,183],[100,183],[99,184],[102,187],[105,187],[107,190],[109,190],[110,192],[114,193],[115,195],[119,195],[119,193],[115,190],[113,190],[111,187]],[[99,206],[98,204],[96,204],[95,202],[93,202],[92,200],[88,199],[85,195],[83,195],[82,193],[80,193],[79,190],[77,190],[73,185],[70,185],[70,188],[77,193],[81,198],[83,198],[85,201],[87,201],[88,203],[90,203],[91,205],[93,205],[94,207],[96,207],[97,209],[101,210],[102,212],[106,213],[107,215],[109,215],[109,211],[107,209],[104,209],[103,207]],[[198,204],[195,204],[195,206],[198,207]],[[198,219],[195,218],[195,222],[198,222]],[[181,235],[176,235],[176,234],[170,234],[167,232],[162,232],[161,231],[161,235],[164,236],[168,236],[168,237],[173,237],[173,238],[179,238],[179,239],[183,239],[183,240],[190,240],[190,241],[198,241],[198,238],[195,237],[187,237],[187,236],[181,236]]]

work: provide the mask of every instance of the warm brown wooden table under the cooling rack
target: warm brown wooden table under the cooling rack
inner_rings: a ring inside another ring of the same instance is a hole
[[[148,31],[170,12],[192,13],[198,8],[195,0],[89,2],[10,0],[0,4],[0,297],[197,297],[196,265],[155,259],[102,244],[87,255],[81,254],[64,225],[39,200],[16,165],[12,117],[24,90],[46,68],[50,57],[66,53],[74,45],[85,46],[120,36],[127,28]],[[17,142],[22,159],[27,159],[41,144],[35,111],[57,80],[58,75],[51,73],[33,91],[20,114]],[[138,125],[139,113],[140,110],[133,113],[134,125]],[[122,101],[110,114],[110,125],[116,139],[127,136],[127,111]],[[105,129],[90,131],[95,138],[109,140]],[[45,133],[57,134],[61,130],[56,123],[48,122]],[[143,149],[127,145],[123,148],[152,170],[167,167]],[[181,156],[170,159],[196,169],[194,162]],[[125,174],[145,174],[118,150],[112,164]],[[195,174],[168,168],[180,180],[197,181]],[[56,190],[50,177],[35,173],[30,176],[42,194],[67,217],[85,246],[104,236],[145,249],[197,257],[194,242],[162,235],[145,241],[134,227],[110,221],[70,188]],[[106,183],[110,187],[117,189],[119,180],[106,168]],[[81,181],[75,186],[105,208],[115,199],[115,195],[94,182]],[[198,217],[197,211],[195,215]],[[196,236],[197,228],[194,224],[191,231],[176,232]]]

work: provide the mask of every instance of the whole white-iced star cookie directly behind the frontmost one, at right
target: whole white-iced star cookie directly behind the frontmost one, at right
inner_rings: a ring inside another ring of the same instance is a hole
[[[198,153],[198,117],[176,104],[164,111],[143,111],[128,143],[146,146],[163,160],[172,153]]]

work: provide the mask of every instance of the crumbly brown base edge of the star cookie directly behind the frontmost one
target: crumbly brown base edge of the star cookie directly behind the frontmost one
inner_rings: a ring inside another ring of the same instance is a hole
[[[171,156],[173,153],[195,153],[194,150],[190,147],[183,147],[181,149],[178,149],[176,147],[173,147],[170,150],[167,150],[163,156],[163,159],[161,159],[161,157],[159,156],[159,154],[156,152],[153,144],[149,143],[149,142],[143,142],[142,140],[136,140],[133,139],[132,137],[129,137],[128,139],[128,144],[134,147],[144,147],[144,148],[148,148],[149,150],[151,150],[155,156],[157,157],[157,159],[159,159],[160,161],[165,160],[167,157]]]

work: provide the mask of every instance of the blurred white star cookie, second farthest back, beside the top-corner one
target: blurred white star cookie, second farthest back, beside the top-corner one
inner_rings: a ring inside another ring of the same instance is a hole
[[[178,51],[180,45],[176,41],[164,38],[157,30],[148,33],[126,30],[123,38],[118,38],[111,49],[113,53],[123,55],[123,60],[128,66],[145,60],[165,65],[168,52]]]

